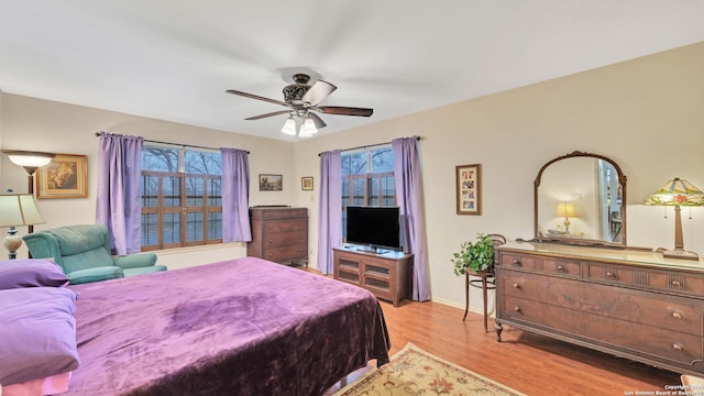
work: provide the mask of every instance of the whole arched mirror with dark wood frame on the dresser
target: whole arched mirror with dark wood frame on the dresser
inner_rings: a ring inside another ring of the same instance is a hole
[[[575,151],[544,164],[535,206],[537,241],[626,246],[626,176],[605,156]]]

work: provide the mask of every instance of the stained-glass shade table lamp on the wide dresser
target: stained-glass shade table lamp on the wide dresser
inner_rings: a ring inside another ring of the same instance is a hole
[[[664,250],[662,255],[668,258],[700,260],[694,252],[684,250],[682,238],[682,211],[683,206],[704,206],[704,193],[693,184],[679,177],[673,178],[659,190],[646,199],[644,205],[673,206],[674,207],[674,250]],[[666,212],[666,218],[667,218]]]

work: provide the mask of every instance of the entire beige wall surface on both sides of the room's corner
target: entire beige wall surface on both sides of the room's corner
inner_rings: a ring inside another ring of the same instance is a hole
[[[4,94],[0,143],[2,148],[86,154],[92,170],[94,133],[101,130],[250,150],[251,204],[309,208],[315,266],[318,153],[419,135],[433,299],[462,306],[464,284],[452,274],[452,252],[477,232],[531,237],[532,180],[542,164],[574,150],[606,155],[628,176],[628,244],[672,248],[672,211],[663,219],[662,208],[640,202],[675,176],[704,188],[702,69],[704,43],[297,143]],[[475,163],[482,164],[482,216],[458,216],[454,167]],[[3,156],[0,188],[23,188],[24,170],[8,164]],[[260,193],[260,173],[284,174],[284,191]],[[300,190],[302,176],[315,177],[314,191]],[[95,172],[90,183],[87,199],[41,200],[47,224],[38,229],[95,221]],[[704,254],[704,209],[692,215],[692,220],[683,219],[685,248]],[[244,248],[233,244],[161,252],[160,262],[177,267],[241,255]],[[471,304],[479,309],[481,295],[473,294]]]

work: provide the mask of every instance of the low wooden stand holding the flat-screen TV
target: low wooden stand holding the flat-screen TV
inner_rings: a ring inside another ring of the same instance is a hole
[[[363,287],[377,298],[398,307],[410,298],[413,254],[388,251],[363,252],[360,246],[344,245],[332,249],[333,277]]]

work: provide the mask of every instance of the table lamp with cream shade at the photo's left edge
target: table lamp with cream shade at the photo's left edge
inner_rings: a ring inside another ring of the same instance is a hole
[[[8,250],[10,260],[16,258],[16,251],[22,245],[22,238],[18,235],[15,227],[43,224],[44,218],[36,208],[34,196],[31,194],[0,195],[0,227],[9,227],[8,235],[2,245]]]

